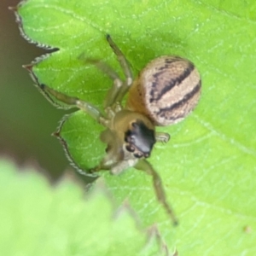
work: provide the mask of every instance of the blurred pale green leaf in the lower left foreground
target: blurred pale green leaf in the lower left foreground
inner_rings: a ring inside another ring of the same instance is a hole
[[[32,168],[17,171],[0,160],[1,255],[166,255],[156,227],[139,230],[127,206],[113,211],[102,183],[84,200],[70,179],[52,187]]]

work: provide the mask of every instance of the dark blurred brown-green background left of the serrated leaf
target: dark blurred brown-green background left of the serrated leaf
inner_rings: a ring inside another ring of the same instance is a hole
[[[21,166],[40,166],[56,178],[69,166],[61,144],[50,136],[64,112],[38,93],[21,67],[47,51],[20,36],[8,9],[19,2],[0,1],[0,156],[10,156]]]

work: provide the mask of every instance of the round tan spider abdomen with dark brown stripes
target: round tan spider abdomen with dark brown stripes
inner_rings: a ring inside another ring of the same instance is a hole
[[[172,125],[186,117],[201,95],[194,64],[177,56],[149,62],[131,85],[127,108],[143,113],[154,125]]]

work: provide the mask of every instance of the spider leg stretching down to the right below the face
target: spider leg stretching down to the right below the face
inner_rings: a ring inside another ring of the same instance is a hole
[[[163,188],[161,178],[157,172],[154,171],[153,166],[150,165],[150,163],[147,160],[140,160],[137,165],[135,166],[137,170],[141,170],[143,172],[147,172],[149,175],[152,176],[153,178],[153,183],[154,183],[154,192],[155,195],[160,201],[160,203],[165,207],[166,212],[169,214],[169,216],[172,218],[172,223],[174,225],[177,225],[177,218],[172,210],[172,207],[168,204],[166,201],[166,193]]]

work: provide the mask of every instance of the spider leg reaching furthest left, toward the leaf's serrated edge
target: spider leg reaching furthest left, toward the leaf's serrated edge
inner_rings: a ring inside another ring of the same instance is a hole
[[[106,123],[108,122],[108,120],[105,119],[100,110],[89,102],[84,102],[77,97],[67,96],[66,94],[49,88],[49,86],[45,84],[40,84],[40,87],[48,96],[54,96],[58,101],[64,102],[76,108],[80,108],[84,112],[89,113],[90,116],[93,119],[96,119],[96,121],[98,121],[100,124],[106,125]]]

